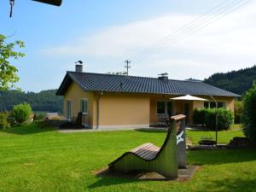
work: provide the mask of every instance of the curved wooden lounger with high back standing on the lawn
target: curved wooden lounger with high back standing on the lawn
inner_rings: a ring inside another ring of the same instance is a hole
[[[183,114],[172,116],[166,140],[161,148],[144,143],[121,155],[108,165],[110,172],[158,172],[164,177],[177,177],[177,167],[185,162],[185,118]],[[177,128],[177,125],[179,127]],[[179,150],[177,150],[179,148]]]

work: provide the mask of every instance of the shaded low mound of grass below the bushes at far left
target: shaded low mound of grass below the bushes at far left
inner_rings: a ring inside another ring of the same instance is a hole
[[[30,125],[21,125],[16,126],[9,129],[4,129],[1,132],[11,133],[15,135],[30,135],[30,134],[37,134],[41,132],[48,132],[48,131],[55,131],[54,128],[40,128],[37,124],[30,124]]]

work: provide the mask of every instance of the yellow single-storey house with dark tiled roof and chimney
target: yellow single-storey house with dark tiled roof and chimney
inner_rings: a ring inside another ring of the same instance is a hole
[[[56,95],[64,96],[64,115],[67,119],[83,112],[83,124],[91,129],[147,128],[161,125],[166,117],[183,113],[187,123],[193,123],[195,108],[218,108],[234,112],[236,94],[201,81],[172,80],[67,72]],[[172,101],[177,96],[200,96],[208,101]]]

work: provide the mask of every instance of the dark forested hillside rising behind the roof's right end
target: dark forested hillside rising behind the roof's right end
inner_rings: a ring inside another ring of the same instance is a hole
[[[239,95],[244,95],[253,86],[253,81],[256,81],[256,66],[229,73],[215,73],[204,80],[207,84]]]

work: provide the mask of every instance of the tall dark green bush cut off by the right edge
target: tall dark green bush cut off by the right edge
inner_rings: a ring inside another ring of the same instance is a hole
[[[243,96],[243,132],[246,137],[252,141],[256,141],[256,84],[247,94]]]

